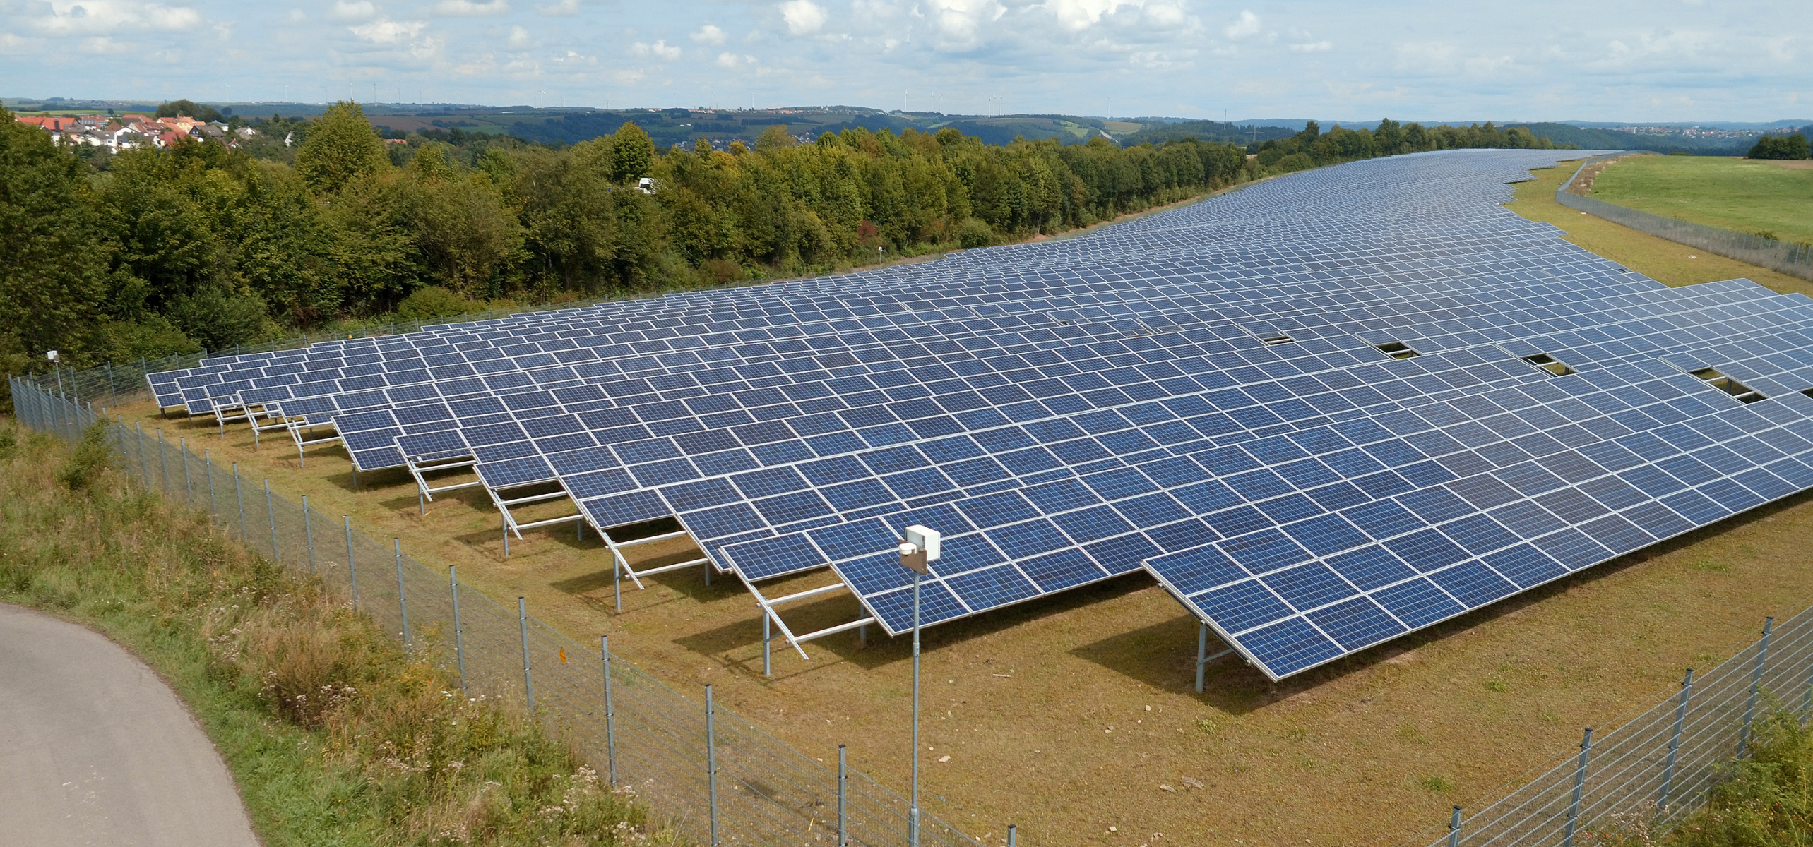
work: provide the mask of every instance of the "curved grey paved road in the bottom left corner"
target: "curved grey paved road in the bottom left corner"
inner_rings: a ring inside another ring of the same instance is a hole
[[[76,624],[0,604],[0,845],[256,847],[181,700]]]

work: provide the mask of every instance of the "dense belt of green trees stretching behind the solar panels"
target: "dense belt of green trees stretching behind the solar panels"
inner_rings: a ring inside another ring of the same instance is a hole
[[[45,350],[91,366],[397,316],[818,274],[1333,161],[1546,145],[1389,120],[1311,123],[1256,158],[1197,138],[988,145],[955,129],[848,127],[800,143],[772,127],[729,151],[658,149],[635,123],[571,145],[459,129],[384,140],[355,103],[254,125],[238,149],[185,140],[96,156],[0,111],[0,370]]]

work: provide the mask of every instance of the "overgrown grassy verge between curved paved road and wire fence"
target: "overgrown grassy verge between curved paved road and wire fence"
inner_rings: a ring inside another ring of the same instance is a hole
[[[319,580],[103,464],[73,493],[58,479],[92,432],[74,450],[13,432],[0,421],[0,600],[54,609],[156,667],[234,771],[261,843],[674,842],[629,789],[535,720],[459,696]]]

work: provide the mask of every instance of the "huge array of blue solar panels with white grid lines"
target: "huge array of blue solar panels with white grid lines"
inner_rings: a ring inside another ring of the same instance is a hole
[[[1556,152],[1371,160],[1086,238],[154,375],[473,455],[910,628],[1144,568],[1271,678],[1813,486],[1813,301],[1668,288],[1499,207]],[[1708,370],[1711,368],[1711,370]],[[760,595],[758,595],[760,597]]]

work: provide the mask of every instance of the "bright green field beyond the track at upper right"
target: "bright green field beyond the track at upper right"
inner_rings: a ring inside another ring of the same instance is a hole
[[[1813,170],[1724,156],[1632,156],[1592,198],[1664,218],[1813,241]]]

